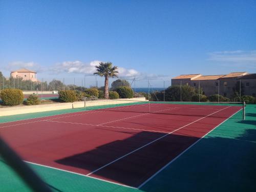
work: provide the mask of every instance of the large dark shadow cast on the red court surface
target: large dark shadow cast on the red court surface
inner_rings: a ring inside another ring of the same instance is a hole
[[[150,136],[156,139],[164,135],[165,134],[162,133],[140,132],[130,138],[106,143],[96,147],[92,151],[59,159],[56,162],[94,172],[103,165],[113,162],[125,154],[143,146],[144,144],[141,143],[143,137]],[[155,139],[152,139],[152,141]],[[109,166],[99,169],[91,176],[138,187],[143,181],[155,174],[157,170],[174,159],[184,151],[185,148],[198,139],[199,138],[190,136],[167,135],[161,140],[147,145],[113,162]],[[132,147],[134,150],[131,149]]]

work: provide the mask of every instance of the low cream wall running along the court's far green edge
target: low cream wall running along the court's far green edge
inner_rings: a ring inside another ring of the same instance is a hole
[[[121,104],[121,103],[132,103],[136,101],[145,101],[145,97],[132,98],[132,99],[119,99],[119,100],[95,100],[87,101],[87,106],[105,105],[105,104]],[[73,104],[73,106],[72,106]],[[53,103],[53,104],[40,104],[32,106],[13,106],[10,108],[0,109],[0,116],[18,115],[25,113],[37,113],[45,111],[55,111],[74,108],[82,108],[84,106],[83,101],[73,103]]]

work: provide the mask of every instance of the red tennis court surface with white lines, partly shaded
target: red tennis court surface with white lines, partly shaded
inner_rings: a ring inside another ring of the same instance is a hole
[[[240,106],[148,104],[0,124],[25,161],[138,187]]]

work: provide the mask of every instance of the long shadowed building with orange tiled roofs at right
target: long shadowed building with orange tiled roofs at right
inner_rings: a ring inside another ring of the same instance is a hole
[[[227,75],[201,75],[189,74],[179,75],[172,78],[172,86],[189,85],[195,88],[202,88],[204,94],[214,95],[220,94],[226,97],[233,95],[233,88],[236,83],[243,87],[244,95],[256,94],[256,74],[248,74],[247,72],[235,72]]]

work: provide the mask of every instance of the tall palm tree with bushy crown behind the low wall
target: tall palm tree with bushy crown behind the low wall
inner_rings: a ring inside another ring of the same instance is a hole
[[[109,77],[117,77],[117,67],[112,67],[112,62],[100,62],[99,66],[95,66],[96,72],[94,74],[100,77],[105,77],[104,84],[104,98],[109,98]]]

